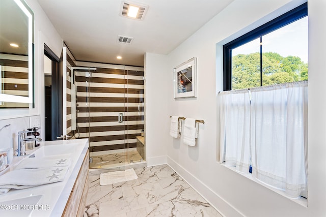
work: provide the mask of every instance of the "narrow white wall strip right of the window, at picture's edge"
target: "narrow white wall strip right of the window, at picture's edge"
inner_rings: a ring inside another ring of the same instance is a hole
[[[309,0],[308,210],[326,216],[326,1]]]

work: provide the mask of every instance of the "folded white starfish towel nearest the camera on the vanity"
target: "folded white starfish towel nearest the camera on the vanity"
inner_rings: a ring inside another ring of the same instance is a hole
[[[69,167],[12,170],[0,176],[0,195],[10,189],[26,189],[63,181]]]

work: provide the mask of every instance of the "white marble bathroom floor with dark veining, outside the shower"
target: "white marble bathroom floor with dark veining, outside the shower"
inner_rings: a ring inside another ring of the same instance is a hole
[[[134,171],[138,179],[100,186],[90,170],[84,216],[222,216],[168,165]]]

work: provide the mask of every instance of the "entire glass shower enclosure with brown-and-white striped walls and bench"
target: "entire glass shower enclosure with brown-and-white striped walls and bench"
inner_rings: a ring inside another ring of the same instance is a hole
[[[89,138],[90,168],[124,170],[145,161],[143,68],[90,65],[68,67],[69,134]]]

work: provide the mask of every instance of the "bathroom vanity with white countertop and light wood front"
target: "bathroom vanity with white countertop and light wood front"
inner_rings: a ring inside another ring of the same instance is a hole
[[[28,158],[70,159],[63,181],[10,190],[0,195],[0,216],[83,216],[88,191],[88,139],[41,142],[26,156],[14,157],[9,170]]]

